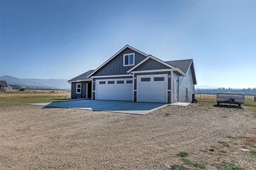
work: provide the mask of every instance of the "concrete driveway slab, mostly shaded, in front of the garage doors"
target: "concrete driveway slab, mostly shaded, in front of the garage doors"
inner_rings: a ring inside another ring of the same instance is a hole
[[[129,114],[147,114],[156,111],[168,104],[162,103],[142,103],[142,102],[126,102],[113,100],[72,100],[70,102],[51,102],[31,104],[46,107],[61,107],[71,109],[84,109],[91,111],[108,111],[122,112]]]

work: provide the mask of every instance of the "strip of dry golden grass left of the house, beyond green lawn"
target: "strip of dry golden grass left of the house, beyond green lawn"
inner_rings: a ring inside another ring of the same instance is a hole
[[[0,98],[44,98],[64,97],[70,98],[69,91],[52,90],[28,90],[28,91],[6,91],[0,93]]]

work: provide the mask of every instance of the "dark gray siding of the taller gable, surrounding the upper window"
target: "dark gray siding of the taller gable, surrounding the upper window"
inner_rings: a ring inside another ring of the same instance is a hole
[[[134,60],[135,63],[134,65],[137,65],[142,61],[143,59],[146,58],[146,56],[132,50],[129,48],[126,48],[118,56],[113,58],[109,63],[106,65],[102,66],[100,70],[95,72],[92,76],[99,76],[99,75],[122,75],[122,74],[127,74],[127,71],[130,70],[133,66],[124,66],[124,54],[129,54],[129,53],[134,53]]]

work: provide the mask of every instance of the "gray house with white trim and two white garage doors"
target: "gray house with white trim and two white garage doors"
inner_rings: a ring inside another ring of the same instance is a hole
[[[95,70],[68,81],[71,98],[133,102],[191,102],[195,97],[193,59],[162,61],[125,45]]]

